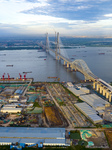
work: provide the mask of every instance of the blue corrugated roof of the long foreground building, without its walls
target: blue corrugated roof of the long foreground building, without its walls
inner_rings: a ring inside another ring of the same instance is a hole
[[[0,127],[0,137],[65,138],[65,128]]]

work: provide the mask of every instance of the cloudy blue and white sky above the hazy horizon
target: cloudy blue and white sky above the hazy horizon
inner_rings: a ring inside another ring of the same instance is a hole
[[[0,36],[112,37],[112,0],[0,0]]]

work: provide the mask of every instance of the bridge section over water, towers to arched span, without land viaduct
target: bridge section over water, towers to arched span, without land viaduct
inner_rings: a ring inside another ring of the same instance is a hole
[[[74,70],[74,71],[81,72],[84,75],[85,80],[95,81],[96,79],[98,79],[98,77],[91,72],[91,70],[89,69],[89,67],[87,66],[87,64],[84,60],[77,59],[75,61],[71,61],[69,59],[66,51],[64,51],[63,49],[60,49],[61,44],[60,44],[60,40],[59,40],[59,33],[57,33],[57,40],[55,40],[55,42],[54,42],[55,49],[51,49],[49,43],[50,42],[49,42],[49,38],[48,38],[48,34],[47,34],[46,51],[47,52],[52,51],[53,53],[55,53],[56,60],[63,60],[64,65],[66,65],[67,68],[70,68],[71,71]]]

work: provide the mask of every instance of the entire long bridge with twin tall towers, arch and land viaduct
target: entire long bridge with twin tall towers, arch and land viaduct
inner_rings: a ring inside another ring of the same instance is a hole
[[[112,97],[112,86],[110,86],[107,82],[104,80],[98,78],[96,75],[94,75],[89,67],[87,66],[86,62],[82,59],[76,59],[75,61],[71,61],[66,53],[66,51],[63,51],[61,49],[59,40],[59,33],[57,33],[57,37],[55,34],[55,42],[52,42],[54,44],[54,48],[50,48],[50,42],[48,38],[48,33],[46,36],[46,46],[41,45],[43,49],[46,50],[46,52],[49,53],[49,51],[52,51],[55,54],[56,60],[63,60],[64,65],[66,65],[67,68],[70,68],[71,71],[79,71],[82,73],[85,77],[85,80],[91,80],[93,82],[93,89],[95,89],[97,92],[102,94],[106,99],[111,102]]]

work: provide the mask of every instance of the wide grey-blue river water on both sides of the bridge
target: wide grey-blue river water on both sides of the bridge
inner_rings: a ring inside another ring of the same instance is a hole
[[[90,70],[106,82],[112,81],[112,47],[71,47],[64,49],[69,58],[83,59]],[[40,58],[40,56],[43,56]],[[7,65],[13,65],[7,66]],[[23,77],[34,78],[34,81],[54,81],[48,77],[58,77],[60,81],[79,81],[84,79],[79,72],[71,72],[56,61],[54,56],[37,50],[1,50],[0,51],[0,77],[5,73],[7,78],[17,78],[19,73]]]

